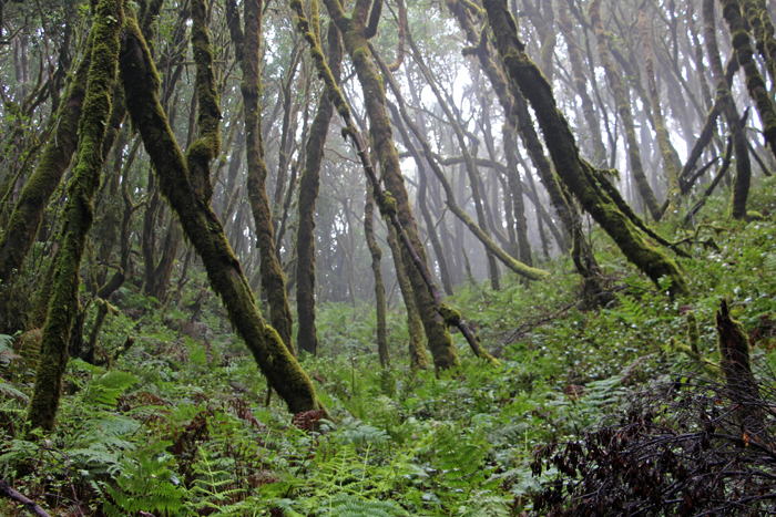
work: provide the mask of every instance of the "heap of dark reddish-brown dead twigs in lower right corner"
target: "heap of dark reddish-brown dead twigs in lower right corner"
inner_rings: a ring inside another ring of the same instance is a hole
[[[776,515],[776,394],[688,374],[642,393],[615,424],[540,449],[542,516]]]

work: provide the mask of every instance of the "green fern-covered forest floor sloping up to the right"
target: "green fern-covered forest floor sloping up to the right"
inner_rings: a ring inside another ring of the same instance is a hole
[[[716,359],[714,314],[726,298],[756,369],[776,366],[776,183],[752,192],[762,219],[734,223],[725,207],[709,201],[687,247],[693,258],[681,259],[688,298],[656,289],[599,231],[593,247],[615,293],[603,309],[580,310],[579,277],[563,258],[541,265],[553,272],[547,282],[509,276],[499,292],[459,287],[451,303],[499,366],[455,334],[459,370],[411,372],[404,313],[394,309],[391,366],[381,369],[375,311],[320,307],[320,356],[302,358],[331,415],[319,432],[304,418],[292,424],[267,396],[217,297],[192,320],[194,287],[165,312],[123,288],[100,341],[109,353],[129,334],[136,343],[110,370],[70,362],[58,428],[43,440],[21,431],[33,372],[10,352],[18,340],[0,337],[0,472],[62,516],[530,511],[531,494],[555,474],[532,475],[538,446],[575,440],[642,390],[683,375],[690,360],[673,349],[687,339],[691,309],[705,358]],[[658,231],[691,235],[671,224]],[[190,286],[205,282],[193,275]],[[8,500],[0,514],[24,515]]]

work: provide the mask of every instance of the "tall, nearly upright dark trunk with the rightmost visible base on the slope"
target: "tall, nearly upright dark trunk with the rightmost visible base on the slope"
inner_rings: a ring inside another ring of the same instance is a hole
[[[748,40],[748,32],[744,32]],[[733,186],[731,214],[736,219],[744,219],[746,218],[746,198],[749,193],[749,180],[752,178],[752,163],[749,162],[749,148],[746,145],[746,134],[722,69],[722,60],[719,59],[716,41],[714,0],[703,0],[703,38],[706,43],[714,83],[716,84],[716,103],[725,115],[725,121],[733,138],[733,151],[736,159],[736,179]],[[741,60],[741,55],[742,52],[736,52],[738,60]]]

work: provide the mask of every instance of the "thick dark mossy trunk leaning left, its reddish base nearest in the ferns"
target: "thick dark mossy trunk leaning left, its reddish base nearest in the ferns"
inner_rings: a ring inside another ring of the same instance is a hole
[[[210,196],[197,188],[195,173],[186,165],[156,96],[159,74],[147,45],[131,17],[124,25],[124,33],[120,65],[127,108],[154,164],[162,195],[176,213],[188,241],[202,257],[211,285],[221,294],[229,321],[245,340],[269,385],[294,413],[319,409],[312,382],[277,332],[262,319],[239,261],[226,240],[221,221],[211,209]],[[200,127],[204,134],[212,134],[204,131],[206,124]],[[203,142],[201,145],[207,144]],[[192,156],[190,151],[190,157],[207,158],[214,155],[212,149],[202,151],[202,156]]]

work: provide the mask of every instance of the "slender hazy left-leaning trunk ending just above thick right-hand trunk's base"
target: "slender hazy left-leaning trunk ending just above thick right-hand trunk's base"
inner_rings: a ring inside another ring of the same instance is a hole
[[[599,56],[601,59],[601,64],[606,72],[606,81],[609,82],[612,93],[614,93],[614,99],[617,104],[617,113],[622,120],[623,127],[625,128],[625,139],[627,142],[627,155],[631,158],[631,174],[633,179],[639,187],[639,194],[646,205],[650,215],[654,220],[660,220],[663,213],[660,209],[655,194],[652,192],[650,182],[646,179],[644,174],[644,168],[641,163],[641,151],[639,149],[639,141],[636,139],[636,131],[633,124],[633,114],[631,113],[631,105],[625,96],[625,90],[622,85],[620,74],[614,70],[612,60],[609,52],[609,41],[607,35],[603,30],[603,23],[601,22],[601,0],[593,0],[590,2],[590,22],[595,30],[595,41],[599,49]]]

